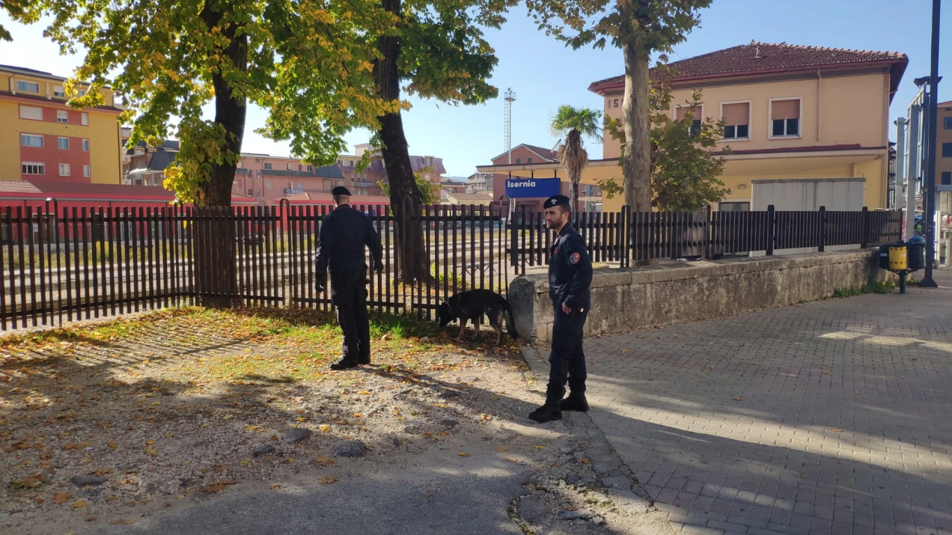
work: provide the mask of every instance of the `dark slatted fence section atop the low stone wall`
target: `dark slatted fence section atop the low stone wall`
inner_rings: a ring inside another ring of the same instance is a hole
[[[898,210],[582,213],[576,227],[593,262],[629,267],[658,259],[717,260],[786,249],[866,248],[900,239]],[[518,213],[510,227],[509,263],[518,274],[548,263],[552,233],[538,213]]]

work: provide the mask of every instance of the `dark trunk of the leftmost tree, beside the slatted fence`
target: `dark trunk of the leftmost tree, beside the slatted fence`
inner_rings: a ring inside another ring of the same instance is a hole
[[[222,24],[228,6],[206,2],[202,18],[208,28]],[[237,69],[248,69],[248,35],[236,36],[237,27],[226,27],[230,39],[224,55]],[[225,127],[226,148],[235,156],[241,153],[245,135],[248,102],[244,95],[235,95],[221,73],[212,76],[215,88],[215,123]],[[236,158],[211,164],[210,178],[202,185],[203,208],[195,210],[195,290],[202,307],[226,308],[239,305],[237,266],[235,259],[235,227],[231,217],[231,185],[234,182]]]

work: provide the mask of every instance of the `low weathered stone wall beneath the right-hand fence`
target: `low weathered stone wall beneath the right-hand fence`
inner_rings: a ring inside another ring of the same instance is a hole
[[[585,334],[698,321],[828,298],[836,289],[892,276],[873,250],[740,258],[698,264],[596,269]],[[552,303],[545,274],[518,277],[507,295],[516,329],[547,342]]]

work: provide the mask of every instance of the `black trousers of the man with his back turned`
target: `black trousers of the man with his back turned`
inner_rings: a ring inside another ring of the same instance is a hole
[[[330,273],[330,301],[344,331],[345,360],[370,362],[370,322],[367,320],[367,275],[354,269]]]

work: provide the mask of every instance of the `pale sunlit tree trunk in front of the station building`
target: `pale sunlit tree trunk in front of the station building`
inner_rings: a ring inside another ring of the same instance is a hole
[[[625,98],[622,101],[625,129],[625,205],[631,211],[651,211],[651,120],[648,116],[648,54],[626,43]]]

